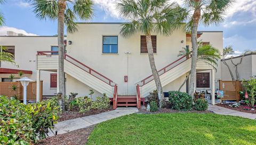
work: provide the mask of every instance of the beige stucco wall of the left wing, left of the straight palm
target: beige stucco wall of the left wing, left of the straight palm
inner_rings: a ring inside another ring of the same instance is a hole
[[[53,36],[1,36],[0,45],[15,46],[15,62],[19,68],[10,63],[1,62],[2,68],[22,69],[33,71],[32,75],[24,75],[36,80],[36,52],[51,51],[51,46],[58,46],[57,37]],[[43,95],[54,95],[56,88],[50,88],[49,71],[41,70],[41,80],[43,80]],[[1,78],[8,78],[10,74],[0,74]]]

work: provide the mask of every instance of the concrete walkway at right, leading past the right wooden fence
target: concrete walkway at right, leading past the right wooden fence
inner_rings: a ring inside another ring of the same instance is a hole
[[[250,114],[246,112],[231,110],[228,108],[224,108],[224,107],[220,107],[212,104],[209,104],[208,110],[213,111],[215,114],[220,114],[220,115],[231,115],[231,116],[240,116],[240,117],[249,118],[249,119],[256,119],[256,114]]]

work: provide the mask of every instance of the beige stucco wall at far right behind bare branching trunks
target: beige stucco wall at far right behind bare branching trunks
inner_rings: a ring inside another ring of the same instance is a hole
[[[233,62],[237,64],[240,61],[241,57],[234,58]],[[234,65],[231,63],[231,60],[228,59],[226,60],[227,64],[229,65],[231,71],[233,72],[233,75],[236,79],[236,71]],[[242,79],[250,79],[251,77],[256,75],[256,54],[253,55],[246,55],[243,60],[241,65],[238,65],[238,74],[240,77],[240,80]],[[221,78],[222,80],[231,80],[230,73],[228,71],[227,66],[225,66],[221,62]]]

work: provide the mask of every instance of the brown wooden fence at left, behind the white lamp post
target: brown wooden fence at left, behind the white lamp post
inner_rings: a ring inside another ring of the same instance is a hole
[[[13,86],[16,90],[13,90]],[[23,100],[23,86],[20,82],[0,82],[0,95],[17,96]],[[43,99],[43,80],[40,81],[40,101]],[[27,100],[36,100],[36,82],[29,82],[27,86]]]

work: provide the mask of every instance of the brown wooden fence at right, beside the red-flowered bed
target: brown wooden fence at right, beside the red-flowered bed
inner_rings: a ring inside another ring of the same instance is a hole
[[[243,82],[236,81],[222,81],[220,80],[220,90],[223,91],[224,97],[221,100],[236,100],[240,99],[239,91],[244,91]]]

